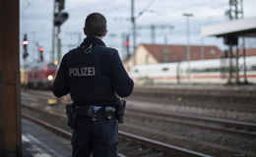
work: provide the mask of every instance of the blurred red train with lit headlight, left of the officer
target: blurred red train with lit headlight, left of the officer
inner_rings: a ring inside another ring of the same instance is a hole
[[[57,66],[54,63],[34,64],[27,72],[27,86],[29,88],[51,88],[56,71]]]

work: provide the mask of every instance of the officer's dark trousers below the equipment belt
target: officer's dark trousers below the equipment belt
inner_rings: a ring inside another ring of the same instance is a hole
[[[104,118],[79,119],[71,143],[72,157],[117,157],[117,122]]]

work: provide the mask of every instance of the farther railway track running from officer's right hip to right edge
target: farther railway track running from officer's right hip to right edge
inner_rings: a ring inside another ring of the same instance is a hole
[[[220,118],[191,115],[184,113],[174,113],[170,111],[154,112],[149,109],[131,107],[127,109],[126,113],[141,118],[151,118],[154,120],[164,121],[166,123],[176,123],[180,125],[192,126],[208,130],[235,133],[239,135],[247,135],[252,138],[256,137],[255,123],[225,120]]]

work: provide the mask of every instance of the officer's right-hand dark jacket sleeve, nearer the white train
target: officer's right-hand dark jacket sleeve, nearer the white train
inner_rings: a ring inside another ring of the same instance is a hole
[[[132,93],[134,82],[126,73],[116,50],[114,53],[112,53],[110,60],[110,75],[112,87],[119,96],[129,96]]]

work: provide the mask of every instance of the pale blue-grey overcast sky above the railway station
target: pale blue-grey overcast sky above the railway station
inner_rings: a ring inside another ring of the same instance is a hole
[[[46,58],[51,51],[51,32],[53,0],[21,0],[20,1],[21,41],[24,33],[31,41],[30,57],[35,57],[37,42],[44,46]],[[103,14],[107,19],[108,35],[103,39],[107,46],[115,47],[123,56],[121,34],[131,33],[131,0],[65,0],[65,12],[69,19],[62,26],[62,54],[72,46],[78,46],[85,37],[83,26],[85,18],[94,12]],[[256,1],[243,0],[244,17],[256,17]],[[157,29],[156,43],[163,44],[164,36],[168,44],[186,44],[186,19],[183,13],[192,13],[190,18],[190,43],[217,45],[224,49],[223,39],[202,37],[200,27],[227,21],[224,17],[228,9],[228,0],[135,0],[137,26],[171,25],[173,29]],[[151,43],[150,29],[138,31],[138,44]],[[255,42],[249,40],[248,42]],[[23,52],[23,51],[21,51]],[[32,56],[33,54],[33,56]]]

